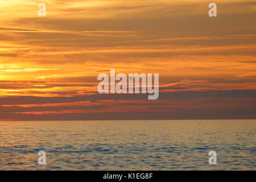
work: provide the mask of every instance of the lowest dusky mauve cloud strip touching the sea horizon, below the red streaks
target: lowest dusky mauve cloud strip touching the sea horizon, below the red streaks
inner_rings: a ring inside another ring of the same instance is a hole
[[[218,113],[218,115],[217,115]],[[187,109],[168,112],[112,112],[68,114],[6,114],[1,121],[88,121],[88,120],[172,120],[172,119],[255,119],[255,107]]]

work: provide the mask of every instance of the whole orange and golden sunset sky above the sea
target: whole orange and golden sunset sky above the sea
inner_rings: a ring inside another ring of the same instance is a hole
[[[256,1],[211,2],[0,1],[0,121],[256,119]],[[158,100],[98,94],[110,68]]]

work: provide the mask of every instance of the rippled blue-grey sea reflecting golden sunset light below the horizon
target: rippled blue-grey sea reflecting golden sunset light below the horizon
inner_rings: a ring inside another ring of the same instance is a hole
[[[255,170],[255,130],[253,120],[0,122],[0,169]]]

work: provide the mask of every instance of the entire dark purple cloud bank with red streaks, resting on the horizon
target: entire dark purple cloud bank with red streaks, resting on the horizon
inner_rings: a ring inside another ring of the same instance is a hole
[[[255,97],[256,90],[161,92],[154,101],[147,94],[11,96],[0,97],[0,119],[256,119]]]

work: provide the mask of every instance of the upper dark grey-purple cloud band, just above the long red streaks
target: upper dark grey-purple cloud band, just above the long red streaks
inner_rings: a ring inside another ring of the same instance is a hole
[[[256,90],[208,90],[192,91],[184,90],[180,92],[160,92],[159,99],[186,100],[195,98],[243,98],[256,97]],[[79,101],[97,100],[147,100],[147,94],[90,94],[73,97],[35,97],[35,96],[8,96],[0,97],[1,105],[20,104],[51,104]],[[0,105],[0,106],[1,106]]]

